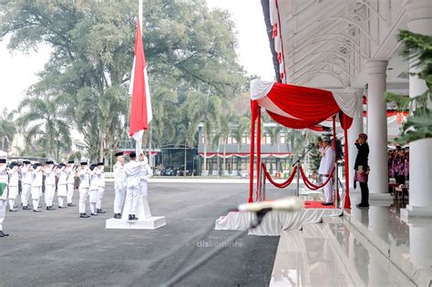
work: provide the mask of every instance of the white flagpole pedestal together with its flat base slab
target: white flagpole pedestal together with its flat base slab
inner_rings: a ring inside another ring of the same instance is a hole
[[[106,229],[118,230],[156,230],[167,225],[165,216],[151,216],[149,200],[147,196],[139,196],[138,214],[139,220],[129,220],[129,204],[126,200],[121,219],[109,219],[105,223]]]

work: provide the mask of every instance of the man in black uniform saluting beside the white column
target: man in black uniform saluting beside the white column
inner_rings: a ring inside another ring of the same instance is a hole
[[[367,135],[361,133],[355,140],[355,147],[357,147],[357,157],[355,158],[355,176],[354,176],[354,187],[356,181],[360,183],[360,190],[362,190],[362,201],[357,204],[358,208],[369,207],[369,188],[367,187],[367,179],[369,176],[369,165],[367,158],[369,157],[369,145],[366,142]]]

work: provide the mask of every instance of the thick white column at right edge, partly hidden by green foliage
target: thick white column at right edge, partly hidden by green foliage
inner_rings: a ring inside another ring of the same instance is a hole
[[[418,34],[432,36],[432,2],[411,0],[406,4],[408,28]],[[410,67],[409,72],[417,72]],[[409,76],[409,97],[417,97],[427,90],[425,81]],[[409,205],[401,210],[407,216],[432,217],[432,138],[416,140],[409,144]]]

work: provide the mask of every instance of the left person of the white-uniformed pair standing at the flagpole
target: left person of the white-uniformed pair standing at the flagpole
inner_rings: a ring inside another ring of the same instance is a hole
[[[114,197],[114,218],[121,219],[121,212],[125,204],[126,196],[126,174],[125,174],[125,157],[123,151],[115,153],[117,162],[113,167],[114,172],[114,190],[116,191]]]

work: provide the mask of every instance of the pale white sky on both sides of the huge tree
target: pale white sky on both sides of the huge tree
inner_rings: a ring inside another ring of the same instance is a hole
[[[259,0],[207,0],[209,7],[228,10],[236,26],[237,55],[249,75],[273,81],[274,70],[269,41]],[[245,13],[247,6],[247,13]],[[36,83],[36,73],[43,70],[49,58],[49,46],[38,51],[10,53],[7,39],[0,42],[0,110],[17,108],[26,88]]]

